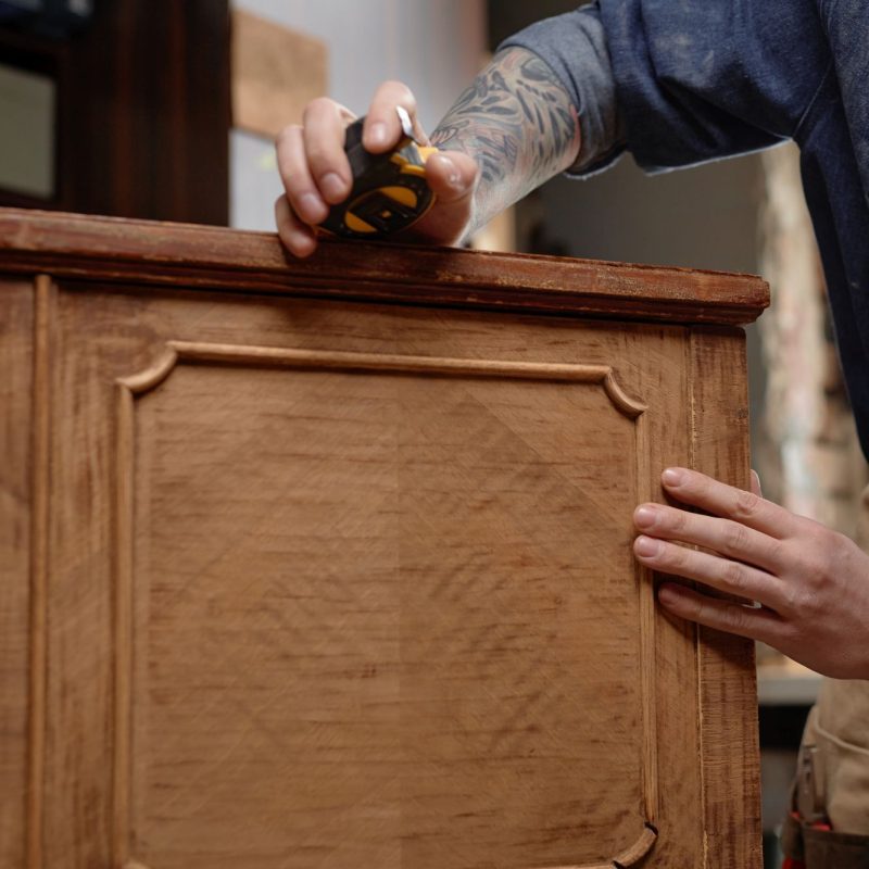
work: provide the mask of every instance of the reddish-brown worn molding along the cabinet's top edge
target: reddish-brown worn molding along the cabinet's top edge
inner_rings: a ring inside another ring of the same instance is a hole
[[[744,325],[763,279],[454,248],[325,241],[294,260],[269,232],[0,209],[0,273],[563,315]]]

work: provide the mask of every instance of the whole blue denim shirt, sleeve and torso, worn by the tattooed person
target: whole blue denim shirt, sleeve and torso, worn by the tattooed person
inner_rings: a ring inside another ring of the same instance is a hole
[[[659,172],[796,141],[869,458],[869,0],[599,0],[505,45],[570,92],[580,175],[626,148]]]

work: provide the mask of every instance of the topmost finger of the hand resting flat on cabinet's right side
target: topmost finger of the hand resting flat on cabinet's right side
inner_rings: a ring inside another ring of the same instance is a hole
[[[714,516],[733,519],[778,540],[795,531],[796,517],[790,511],[754,492],[736,489],[688,468],[667,468],[660,479],[675,499]]]

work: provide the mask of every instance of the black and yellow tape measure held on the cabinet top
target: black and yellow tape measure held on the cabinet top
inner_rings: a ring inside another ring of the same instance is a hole
[[[371,154],[363,148],[364,117],[347,128],[353,189],[344,202],[332,205],[318,230],[342,238],[382,238],[413,226],[434,203],[425,166],[438,149],[419,144],[407,112],[401,106],[396,111],[404,137],[391,152]]]

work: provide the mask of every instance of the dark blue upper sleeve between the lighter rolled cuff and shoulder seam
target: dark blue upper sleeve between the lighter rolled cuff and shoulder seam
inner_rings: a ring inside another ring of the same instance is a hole
[[[601,18],[648,171],[795,137],[830,65],[815,0],[601,0]]]

